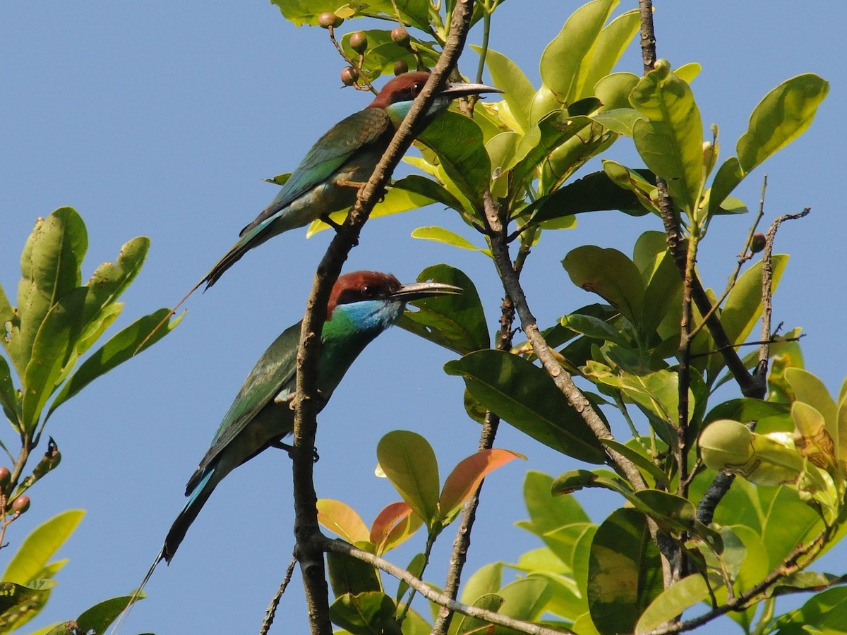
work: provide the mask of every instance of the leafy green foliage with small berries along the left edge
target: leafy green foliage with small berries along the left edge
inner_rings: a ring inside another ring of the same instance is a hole
[[[26,241],[17,306],[11,305],[0,286],[6,353],[0,356],[0,405],[20,441],[17,457],[11,450],[13,444],[8,440],[0,443],[12,466],[0,468],[0,544],[7,527],[30,507],[25,492],[61,461],[58,445],[50,438],[44,456],[30,475],[23,476],[48,418],[94,379],[161,340],[179,322],[174,320],[154,333],[168,313],[159,309],[121,329],[86,356],[122,312],[124,304],[118,299],[141,271],[149,247],[150,240],[144,236],[130,240],[114,262],[103,263],[82,284],[82,261],[88,248],[86,225],[74,209],[60,207],[47,218],[39,218]],[[78,365],[83,356],[85,360]],[[4,598],[0,632],[22,627],[47,603],[56,584],[53,576],[66,562],[49,560],[84,513],[65,511],[36,527],[20,544],[0,582]],[[2,548],[6,547],[3,544]],[[103,632],[128,601],[106,600],[75,621],[47,631],[68,632],[73,623],[80,632]]]

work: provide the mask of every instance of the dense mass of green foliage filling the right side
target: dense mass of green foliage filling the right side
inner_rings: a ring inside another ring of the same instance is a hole
[[[320,13],[336,10],[331,3],[274,3],[297,25],[316,24]],[[475,3],[473,18],[483,20],[486,30],[497,4]],[[828,84],[811,74],[783,82],[751,114],[736,155],[719,163],[717,126],[704,140],[691,87],[699,65],[673,69],[658,60],[642,77],[615,72],[640,24],[637,10],[613,16],[616,5],[593,0],[567,19],[541,57],[537,88],[503,52],[473,47],[503,89],[502,100],[465,104],[431,124],[418,137],[421,156],[406,159],[421,174],[397,180],[374,210],[377,217],[432,202],[453,210],[478,231],[476,240],[438,226],[412,235],[483,253],[495,261],[507,293],[498,246],[518,243],[510,264],[519,274],[529,247],[546,231],[572,229],[575,214],[618,210],[644,218],[645,231],[631,254],[584,245],[564,255],[562,266],[573,284],[597,295],[598,303],[566,312],[541,332],[546,345],[555,347],[558,366],[552,371],[547,364],[539,367],[531,342],[511,351],[491,348],[484,307],[464,273],[439,265],[421,274],[466,290],[461,298],[419,302],[420,310],[408,313],[401,326],[460,356],[445,371],[464,380],[469,416],[479,422],[500,417],[589,464],[558,478],[529,473],[524,494],[530,520],[519,525],[545,546],[518,563],[484,567],[464,584],[459,599],[523,621],[544,616],[552,627],[586,633],[673,630],[680,614],[696,613],[703,602],[711,617],[731,605],[745,632],[789,631],[804,620],[805,627],[841,632],[824,608],[841,602],[840,589],[815,596],[793,614],[768,617],[778,594],[840,582],[804,570],[844,531],[847,395],[843,390],[833,399],[814,375],[796,367],[800,356],[791,340],[799,331],[785,340],[763,335],[770,340],[762,348],[764,359],[776,360],[770,380],[778,387],[767,396],[750,395],[742,383],[741,373],[756,377],[759,355],[730,363],[731,356],[715,352],[723,338],[729,347],[750,338],[761,317],[763,280],[771,295],[788,258],[768,248],[750,262],[754,252],[745,249],[739,270],[750,264],[726,292],[703,290],[707,304],[692,301],[697,248],[710,224],[722,214],[747,212],[731,193],[805,131]],[[449,33],[452,6],[446,3],[441,14],[426,2],[337,9],[347,20],[398,19],[412,31],[401,45],[388,30],[368,29],[364,52],[351,47],[352,33],[340,38],[346,61],[361,71],[360,87],[398,62],[431,65]],[[643,166],[603,160],[601,171],[574,178],[622,138],[632,140]],[[322,227],[316,222],[310,231]],[[510,339],[510,325],[502,328],[501,336]],[[580,408],[557,380],[560,373],[579,377],[587,387]],[[733,379],[744,396],[717,402],[716,389]],[[605,432],[592,427],[586,408]],[[619,421],[627,424],[626,442],[612,437],[612,430],[619,434]],[[761,432],[754,430],[756,422]],[[376,555],[407,540],[418,526],[427,527],[424,554],[409,566],[421,577],[430,543],[446,525],[435,455],[418,435],[397,432],[379,444],[378,456],[405,504],[388,505],[368,530],[346,505],[323,501],[321,522]],[[717,470],[746,481],[736,481],[711,517],[699,505]],[[465,480],[470,483],[469,476]],[[609,489],[626,506],[599,524],[590,522],[570,495],[585,488]],[[797,521],[790,530],[778,527],[785,517]],[[684,565],[669,565],[674,557]],[[392,598],[373,566],[348,560],[329,558],[336,624],[352,633],[429,632],[421,616],[408,612],[408,602],[400,602],[405,585]],[[344,586],[337,582],[342,564]],[[504,582],[506,570],[519,577]],[[761,603],[767,610],[755,623]],[[449,632],[487,631],[484,621],[457,616]]]

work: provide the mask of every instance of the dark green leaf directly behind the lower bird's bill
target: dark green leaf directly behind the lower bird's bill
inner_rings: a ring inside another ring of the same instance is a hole
[[[446,264],[425,268],[418,275],[418,282],[430,280],[453,284],[462,289],[462,295],[414,301],[412,305],[418,310],[407,311],[399,326],[460,355],[488,348],[488,324],[473,280]]]

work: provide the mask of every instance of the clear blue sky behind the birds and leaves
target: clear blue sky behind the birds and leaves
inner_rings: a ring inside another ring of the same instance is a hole
[[[578,6],[505,3],[495,14],[490,46],[518,62],[538,86],[543,47]],[[721,126],[724,157],[772,87],[809,71],[831,82],[811,130],[736,193],[755,207],[767,172],[767,222],[812,208],[810,217],[780,231],[777,251],[792,257],[774,321],[803,327],[806,367],[837,392],[847,374],[840,337],[847,308],[840,193],[847,72],[839,43],[847,9],[833,7],[656,2],[656,35],[660,57],[674,66],[703,65],[693,88],[704,124]],[[348,23],[341,30],[363,26]],[[469,41],[479,39],[477,28]],[[0,282],[14,294],[19,253],[36,218],[70,205],[88,226],[84,274],[113,260],[126,240],[152,239],[147,265],[125,295],[123,323],[177,301],[274,196],[275,186],[262,179],[291,170],[329,126],[369,101],[339,90],[344,63],[323,30],[298,29],[259,0],[3,3],[0,55]],[[476,63],[468,50],[460,65],[470,74]],[[619,69],[641,72],[637,42]],[[637,164],[628,140],[610,156]],[[727,218],[712,227],[699,261],[708,286],[722,289],[750,221]],[[429,264],[450,262],[477,281],[493,328],[502,291],[490,262],[409,237],[429,224],[478,240],[449,213],[429,208],[368,224],[347,270],[380,269],[411,281]],[[523,276],[540,323],[590,300],[559,264],[567,251],[595,244],[629,253],[634,236],[646,229],[661,227],[651,217],[601,213],[580,218],[576,230],[545,235]],[[31,511],[6,538],[14,546],[64,509],[88,513],[61,552],[69,564],[33,627],[70,619],[136,586],[246,373],[302,316],[328,240],[329,234],[305,240],[291,233],[252,251],[213,290],[191,299],[185,323],[167,340],[53,417],[48,433],[63,452],[62,467],[33,489]],[[463,414],[462,382],[441,371],[450,359],[448,351],[400,329],[368,348],[319,419],[319,496],[345,500],[367,522],[396,500],[390,485],[373,476],[375,445],[390,429],[424,433],[444,474],[473,452],[479,430]],[[11,438],[10,430],[0,433],[4,441]],[[529,461],[514,462],[486,482],[471,569],[540,546],[513,527],[526,516],[520,499],[526,470],[555,475],[576,467],[506,426],[497,445],[522,451]],[[291,557],[290,473],[285,455],[266,452],[230,475],[171,566],[158,570],[126,631],[257,632]],[[598,522],[618,504],[601,494],[580,500]],[[450,542],[448,530],[436,562],[446,560]],[[412,553],[402,552],[397,561]],[[843,572],[838,554],[843,561],[844,548],[828,560],[833,573]],[[439,566],[430,579],[443,579]],[[277,620],[284,625],[278,632],[304,631],[299,588],[283,599]]]

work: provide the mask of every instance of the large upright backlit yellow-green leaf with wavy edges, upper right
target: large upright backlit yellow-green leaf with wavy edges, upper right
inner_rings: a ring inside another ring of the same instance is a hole
[[[635,122],[633,129],[641,158],[667,181],[674,202],[695,213],[703,179],[703,123],[691,88],[659,60],[629,99],[649,119]]]

